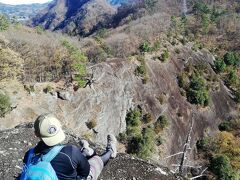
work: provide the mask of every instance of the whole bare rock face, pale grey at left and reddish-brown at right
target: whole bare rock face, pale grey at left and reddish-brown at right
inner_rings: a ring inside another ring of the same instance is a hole
[[[187,63],[205,62],[206,68],[215,73],[211,69],[214,57],[206,50],[194,52],[190,45],[181,45],[179,49],[181,53],[177,54],[169,46],[171,58],[166,63],[156,59],[160,56],[157,52],[145,55],[146,84],[134,73],[140,63],[134,59],[111,59],[89,67],[92,69],[89,72],[93,72],[94,83],[77,91],[71,86],[60,89],[60,82],[54,84],[55,91],[63,94],[66,100],[54,92],[44,93],[42,89],[47,84],[35,84],[36,90],[31,95],[20,85],[11,87],[5,84],[5,89],[11,90],[12,102],[17,108],[1,119],[1,129],[34,121],[39,114],[51,112],[74,134],[104,144],[108,133],[118,135],[126,130],[127,111],[140,106],[144,112],[153,115],[154,121],[163,114],[170,119],[169,127],[161,134],[164,143],[158,147],[155,161],[165,165],[176,163],[178,157],[165,157],[182,151],[192,120],[191,158],[194,158],[196,140],[205,133],[214,134],[220,121],[234,115],[236,107],[221,81],[216,82],[216,90],[210,90],[211,102],[208,107],[192,105],[181,95],[177,75]],[[13,89],[17,92],[13,92]],[[160,95],[164,95],[164,103],[159,102]],[[90,121],[96,121],[94,130],[88,129],[86,125]]]

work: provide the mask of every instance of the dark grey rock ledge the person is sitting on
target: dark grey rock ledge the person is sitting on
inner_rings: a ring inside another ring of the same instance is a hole
[[[79,137],[66,132],[66,143],[75,145]],[[33,125],[23,124],[13,129],[0,132],[0,177],[1,179],[16,179],[21,171],[22,158],[30,147],[37,143]],[[96,146],[101,149],[100,146]],[[120,153],[109,161],[99,179],[104,180],[171,180],[176,179],[166,168],[147,163],[128,154]]]

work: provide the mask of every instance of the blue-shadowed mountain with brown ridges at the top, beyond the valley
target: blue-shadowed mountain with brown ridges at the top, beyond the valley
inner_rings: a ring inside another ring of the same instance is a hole
[[[106,26],[116,11],[106,0],[55,0],[32,19],[32,25],[86,36]]]

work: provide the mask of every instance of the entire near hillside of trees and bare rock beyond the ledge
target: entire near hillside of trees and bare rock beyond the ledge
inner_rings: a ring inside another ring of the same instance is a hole
[[[238,179],[239,2],[187,1],[186,16],[181,2],[108,6],[114,23],[87,24],[84,37],[4,26],[1,129],[52,112],[74,134],[104,144],[114,133],[121,152],[176,174]]]

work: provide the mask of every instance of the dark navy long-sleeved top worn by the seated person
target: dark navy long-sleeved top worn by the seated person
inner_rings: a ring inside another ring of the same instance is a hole
[[[46,154],[52,147],[40,141],[35,147],[35,154]],[[28,151],[29,152],[29,151]],[[26,163],[28,152],[24,156],[23,162]],[[88,160],[81,153],[80,149],[74,145],[66,145],[60,153],[51,161],[59,180],[73,180],[77,176],[86,178],[89,175],[90,165]]]

